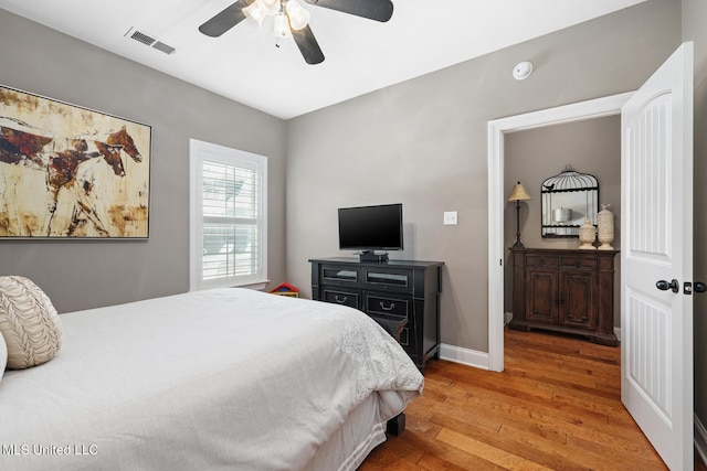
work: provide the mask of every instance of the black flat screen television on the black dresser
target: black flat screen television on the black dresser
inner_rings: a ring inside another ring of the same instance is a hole
[[[361,260],[386,261],[374,250],[402,250],[402,204],[339,208],[339,248],[359,250]]]

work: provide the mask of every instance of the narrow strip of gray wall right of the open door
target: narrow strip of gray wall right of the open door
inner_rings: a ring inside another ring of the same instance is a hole
[[[707,282],[707,2],[683,0],[683,41],[695,42],[694,276]],[[707,426],[707,293],[695,296],[695,414]],[[705,450],[707,451],[707,450]]]

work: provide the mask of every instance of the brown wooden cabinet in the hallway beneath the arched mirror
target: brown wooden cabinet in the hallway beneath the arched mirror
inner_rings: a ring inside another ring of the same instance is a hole
[[[510,329],[545,329],[619,344],[614,334],[618,250],[511,248],[510,253]]]

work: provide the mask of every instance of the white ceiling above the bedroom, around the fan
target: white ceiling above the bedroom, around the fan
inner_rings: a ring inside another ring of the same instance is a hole
[[[243,21],[218,39],[198,31],[233,1],[0,0],[0,8],[288,119],[645,0],[393,0],[387,23],[300,1],[326,56],[318,65],[307,65],[293,40],[275,47],[267,21],[260,29]],[[131,28],[177,52],[129,39]]]

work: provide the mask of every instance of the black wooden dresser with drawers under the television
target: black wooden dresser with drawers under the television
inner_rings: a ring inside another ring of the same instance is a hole
[[[312,297],[366,312],[389,332],[407,319],[398,341],[420,371],[440,352],[442,261],[320,258],[312,264]],[[392,329],[391,329],[392,327]]]

